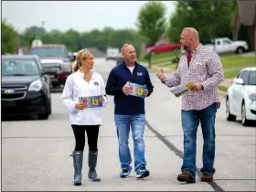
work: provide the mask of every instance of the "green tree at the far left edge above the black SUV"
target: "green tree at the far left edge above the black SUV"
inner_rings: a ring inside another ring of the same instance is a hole
[[[2,48],[1,54],[15,53],[18,48],[18,34],[16,29],[11,25],[7,24],[6,21],[2,21]]]

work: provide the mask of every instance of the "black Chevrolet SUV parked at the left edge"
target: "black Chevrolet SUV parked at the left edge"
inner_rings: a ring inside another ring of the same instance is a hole
[[[2,115],[37,115],[46,120],[51,113],[50,83],[37,56],[2,56]]]

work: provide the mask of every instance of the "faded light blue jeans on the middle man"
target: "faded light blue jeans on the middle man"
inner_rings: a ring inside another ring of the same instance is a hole
[[[137,171],[146,165],[144,157],[144,124],[145,115],[123,115],[115,114],[114,122],[116,125],[117,137],[119,140],[119,159],[121,168],[132,169],[132,156],[130,153],[128,140],[130,127],[133,134],[133,153],[134,153],[134,169]]]

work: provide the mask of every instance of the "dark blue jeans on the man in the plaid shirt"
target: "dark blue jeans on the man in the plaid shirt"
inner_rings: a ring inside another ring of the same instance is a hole
[[[216,103],[207,108],[196,111],[181,111],[182,128],[184,132],[184,156],[181,171],[187,171],[196,177],[196,155],[197,155],[197,127],[201,123],[204,145],[203,145],[203,167],[201,172],[215,173],[213,167],[215,158],[215,119]]]

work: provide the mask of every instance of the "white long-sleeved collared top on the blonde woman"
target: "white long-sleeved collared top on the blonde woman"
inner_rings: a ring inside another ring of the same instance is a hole
[[[101,107],[77,110],[75,104],[79,102],[79,97],[103,95],[102,106],[105,107],[108,101],[105,96],[104,80],[99,73],[94,71],[92,71],[90,81],[84,80],[83,77],[84,73],[81,73],[80,69],[69,75],[62,92],[61,101],[69,110],[71,124],[100,125],[102,123]]]

